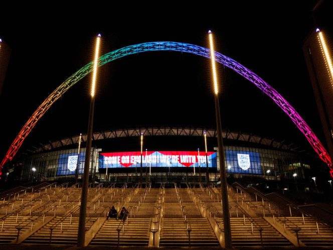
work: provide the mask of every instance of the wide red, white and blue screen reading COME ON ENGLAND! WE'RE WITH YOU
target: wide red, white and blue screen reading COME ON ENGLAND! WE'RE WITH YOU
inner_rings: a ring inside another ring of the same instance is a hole
[[[216,152],[207,152],[208,167],[216,167]],[[100,153],[99,168],[140,167],[141,152]],[[206,152],[143,151],[145,167],[206,167]]]

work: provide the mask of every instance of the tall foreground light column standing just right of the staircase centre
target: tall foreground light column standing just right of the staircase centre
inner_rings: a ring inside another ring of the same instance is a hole
[[[219,165],[220,165],[223,222],[224,222],[224,242],[225,242],[224,247],[232,248],[228,188],[227,188],[227,172],[226,172],[226,166],[225,166],[224,147],[223,147],[223,141],[222,141],[222,126],[221,126],[221,115],[220,115],[220,106],[219,106],[219,88],[218,88],[217,74],[216,74],[216,68],[215,68],[213,34],[211,31],[209,31],[208,34],[209,34],[209,44],[210,44],[210,49],[211,49],[211,61],[212,61],[214,93],[215,93],[216,131],[217,131],[217,142],[218,142],[218,147],[219,147],[219,158],[220,158]]]

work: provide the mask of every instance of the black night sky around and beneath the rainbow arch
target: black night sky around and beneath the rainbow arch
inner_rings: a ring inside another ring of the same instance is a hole
[[[314,28],[311,9],[316,1],[292,5],[291,1],[233,2],[223,2],[223,8],[212,10],[209,2],[191,9],[170,3],[151,12],[142,11],[144,7],[101,6],[98,16],[60,6],[50,13],[13,13],[0,27],[0,37],[12,48],[0,96],[0,157],[42,101],[93,59],[98,33],[102,34],[101,50],[105,54],[150,41],[208,47],[207,31],[211,29],[216,50],[273,86],[322,140],[301,50],[302,41]],[[319,27],[330,37],[331,10],[331,4],[324,1],[315,12]],[[222,75],[224,129],[308,147],[287,115],[252,83],[221,65],[218,70]],[[67,91],[37,123],[23,147],[86,133],[89,85],[88,76]],[[108,63],[99,72],[94,131],[160,125],[213,128],[211,86],[210,61],[191,54],[148,52]]]

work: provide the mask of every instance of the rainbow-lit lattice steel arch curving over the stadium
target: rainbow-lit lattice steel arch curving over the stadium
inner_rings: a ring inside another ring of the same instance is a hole
[[[210,58],[210,50],[198,45],[178,43],[178,42],[148,42],[148,43],[130,45],[109,52],[99,58],[98,65],[102,66],[115,59],[147,51],[180,51]],[[290,117],[290,119],[295,123],[296,127],[303,133],[303,135],[306,137],[307,141],[310,143],[314,151],[318,154],[320,159],[327,164],[327,166],[330,169],[329,173],[333,177],[332,162],[325,148],[322,146],[321,142],[314,135],[314,133],[312,132],[310,127],[306,124],[306,122],[303,120],[303,118],[274,88],[268,85],[263,79],[261,79],[257,74],[255,74],[251,70],[245,68],[240,63],[236,62],[235,60],[225,55],[222,55],[219,52],[215,52],[215,60],[231,68],[241,76],[245,77],[246,79],[251,81],[254,85],[256,85],[260,90],[262,90],[266,95],[268,95]],[[58,88],[56,88],[46,98],[46,100],[36,109],[36,111],[23,126],[20,133],[17,135],[11,147],[9,148],[5,158],[3,159],[0,165],[0,175],[1,175],[1,169],[3,168],[4,164],[8,160],[13,159],[13,157],[20,149],[25,138],[29,135],[29,133],[35,127],[35,124],[43,116],[43,114],[62,94],[64,94],[70,87],[72,87],[75,83],[77,83],[87,74],[89,74],[92,71],[92,69],[93,69],[93,62],[90,62],[87,65],[85,65],[83,68],[79,69],[76,73],[74,73],[66,81],[64,81]]]

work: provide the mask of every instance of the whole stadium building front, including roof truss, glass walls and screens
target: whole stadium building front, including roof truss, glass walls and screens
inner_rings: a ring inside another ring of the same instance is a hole
[[[141,133],[144,136],[142,164]],[[220,171],[216,136],[215,130],[170,127],[94,133],[90,178],[98,182],[134,183],[139,181],[142,165],[144,182],[206,182],[208,160],[210,181],[218,181]],[[291,145],[240,132],[223,131],[223,138],[229,177],[301,180],[310,168],[306,157]],[[75,136],[35,148],[21,159],[21,180],[74,178],[77,167],[80,179],[84,168],[86,135],[82,135],[78,155],[79,139],[80,136]]]

